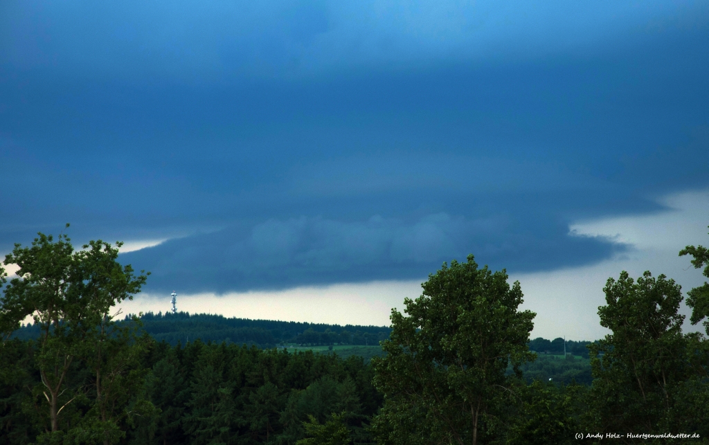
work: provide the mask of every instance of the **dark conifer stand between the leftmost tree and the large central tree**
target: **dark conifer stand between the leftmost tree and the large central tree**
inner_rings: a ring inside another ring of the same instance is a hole
[[[333,412],[357,443],[372,442],[381,395],[361,358],[191,342],[157,344],[150,360],[147,393],[161,412],[128,431],[131,443],[295,444],[308,415],[326,423]]]

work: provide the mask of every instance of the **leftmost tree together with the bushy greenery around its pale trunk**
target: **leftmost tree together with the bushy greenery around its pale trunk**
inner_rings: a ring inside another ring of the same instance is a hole
[[[45,430],[40,442],[116,443],[121,422],[151,409],[135,400],[143,391],[140,354],[150,339],[138,341],[135,325],[118,327],[109,313],[146,279],[116,262],[120,245],[91,241],[74,252],[67,235],[55,242],[40,233],[5,258],[19,270],[3,289],[0,325],[14,329],[32,315],[39,330],[30,343],[39,381],[27,385],[23,411]]]

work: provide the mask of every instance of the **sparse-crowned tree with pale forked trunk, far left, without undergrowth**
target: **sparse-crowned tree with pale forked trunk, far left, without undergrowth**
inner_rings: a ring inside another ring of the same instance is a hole
[[[71,387],[76,369],[72,364],[77,360],[91,359],[96,403],[105,405],[101,390],[106,380],[101,371],[107,363],[109,311],[116,303],[132,299],[146,279],[145,274],[135,276],[130,266],[118,264],[120,245],[92,241],[74,252],[67,235],[55,241],[40,233],[30,247],[15,244],[5,258],[4,264],[19,269],[0,298],[1,325],[12,329],[32,315],[40,327],[36,362],[48,403],[49,432],[60,430],[62,409],[79,395],[79,388]],[[115,350],[113,354],[116,359]]]

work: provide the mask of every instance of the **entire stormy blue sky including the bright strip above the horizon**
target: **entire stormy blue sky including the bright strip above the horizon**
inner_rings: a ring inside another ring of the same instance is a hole
[[[703,281],[708,47],[705,1],[4,1],[0,254],[68,222],[126,310],[384,325],[472,253],[595,339],[622,269]]]

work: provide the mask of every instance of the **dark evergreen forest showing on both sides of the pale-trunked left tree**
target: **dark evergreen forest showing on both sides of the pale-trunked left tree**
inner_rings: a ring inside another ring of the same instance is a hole
[[[0,443],[29,444],[43,432],[41,410],[34,409],[41,392],[36,400],[26,391],[40,378],[29,366],[37,351],[19,339],[8,342],[5,351],[15,366],[4,374]],[[382,401],[372,385],[372,366],[354,356],[342,360],[199,340],[185,347],[150,342],[134,366],[143,370],[144,384],[130,395],[133,404],[143,400],[152,406],[119,416],[116,425],[126,432],[122,443],[294,443],[303,439],[308,415],[325,422],[342,411],[353,437],[367,443],[372,439],[362,426]],[[82,377],[77,373],[67,385],[85,383]],[[67,405],[62,429],[77,429],[90,409],[88,398]]]

